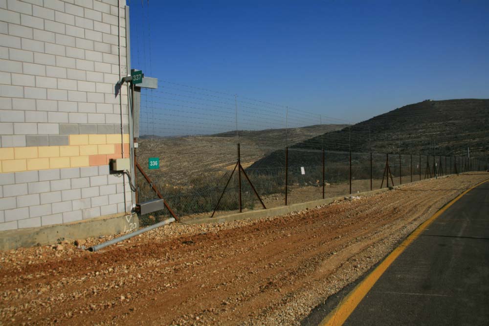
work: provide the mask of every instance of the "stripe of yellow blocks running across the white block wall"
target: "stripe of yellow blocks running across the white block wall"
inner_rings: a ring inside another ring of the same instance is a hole
[[[129,144],[129,134],[122,140]],[[91,155],[120,156],[120,144],[120,134],[77,134],[66,146],[0,148],[0,173],[90,166]]]

